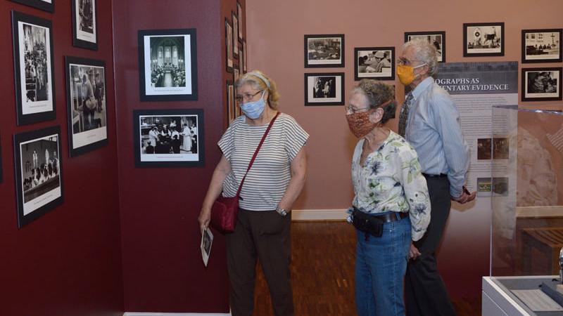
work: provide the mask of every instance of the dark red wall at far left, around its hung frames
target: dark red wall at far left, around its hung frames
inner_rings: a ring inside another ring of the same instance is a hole
[[[110,1],[98,1],[99,51],[72,47],[70,0],[55,13],[0,1],[0,315],[122,315]],[[56,120],[16,126],[11,10],[53,21]],[[65,55],[106,62],[109,145],[68,157]],[[13,134],[61,125],[64,202],[18,230]]]

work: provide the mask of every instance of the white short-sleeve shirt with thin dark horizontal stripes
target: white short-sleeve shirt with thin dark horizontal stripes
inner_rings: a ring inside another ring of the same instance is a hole
[[[231,164],[231,173],[223,182],[223,196],[236,195],[236,190],[266,129],[267,124],[246,124],[246,117],[241,115],[224,132],[218,145]],[[291,162],[308,138],[309,134],[293,117],[279,114],[244,180],[239,202],[242,209],[276,209],[291,180]]]

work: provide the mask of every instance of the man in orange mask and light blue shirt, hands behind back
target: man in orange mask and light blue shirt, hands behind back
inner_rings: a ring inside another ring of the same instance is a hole
[[[436,84],[436,48],[424,39],[405,43],[397,74],[412,90],[399,116],[399,133],[415,147],[428,184],[431,221],[426,235],[411,245],[405,276],[407,315],[455,315],[448,290],[438,272],[436,249],[450,214],[451,199],[475,199],[463,186],[469,168],[460,114],[452,98]]]

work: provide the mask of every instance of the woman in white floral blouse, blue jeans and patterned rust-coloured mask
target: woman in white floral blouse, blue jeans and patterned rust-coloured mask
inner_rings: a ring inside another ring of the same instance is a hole
[[[350,209],[358,232],[355,300],[360,316],[405,314],[403,279],[410,244],[422,238],[430,221],[417,152],[381,126],[394,113],[394,89],[369,79],[360,81],[346,105],[350,131],[360,138],[352,160],[355,197]]]

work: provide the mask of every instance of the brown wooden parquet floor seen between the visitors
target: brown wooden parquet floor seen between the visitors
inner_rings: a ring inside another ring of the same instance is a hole
[[[351,316],[354,305],[355,232],[342,221],[291,224],[291,281],[296,316]],[[255,316],[273,315],[258,267]],[[481,315],[481,298],[454,301],[457,316]]]

